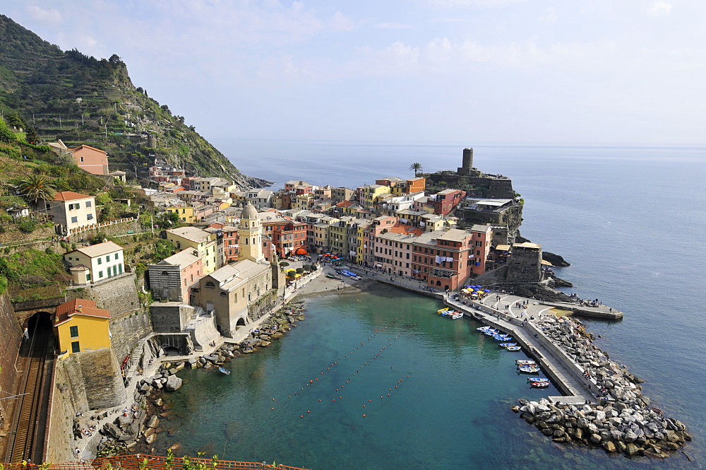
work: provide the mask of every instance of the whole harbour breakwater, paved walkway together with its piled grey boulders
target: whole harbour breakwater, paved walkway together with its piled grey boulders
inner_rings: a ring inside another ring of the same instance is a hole
[[[447,305],[513,334],[566,396],[528,401],[513,411],[554,442],[579,442],[647,457],[669,457],[692,440],[686,425],[664,417],[642,395],[642,379],[609,359],[577,319],[540,315],[516,319],[482,305],[446,299]]]

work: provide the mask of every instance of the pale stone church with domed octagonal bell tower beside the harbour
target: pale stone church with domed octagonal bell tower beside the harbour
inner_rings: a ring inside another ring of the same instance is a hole
[[[240,260],[203,276],[196,292],[198,305],[215,314],[218,331],[227,337],[272,310],[285,289],[277,255],[269,262],[263,256],[262,225],[252,204],[243,208],[238,232]]]

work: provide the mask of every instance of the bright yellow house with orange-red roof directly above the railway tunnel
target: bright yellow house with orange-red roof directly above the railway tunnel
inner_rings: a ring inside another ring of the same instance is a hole
[[[59,351],[73,354],[109,348],[109,319],[110,312],[97,308],[92,300],[73,299],[59,305],[54,320]]]

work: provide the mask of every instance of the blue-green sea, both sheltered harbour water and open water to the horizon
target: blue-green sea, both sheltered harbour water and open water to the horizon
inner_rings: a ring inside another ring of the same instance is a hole
[[[307,469],[702,469],[706,462],[706,147],[213,139],[247,175],[357,187],[474,166],[513,180],[522,236],[561,254],[567,292],[625,312],[585,320],[597,346],[686,423],[669,459],[558,445],[510,411],[530,389],[471,319],[395,288],[306,299],[306,320],[232,375],[182,373],[160,448]]]

